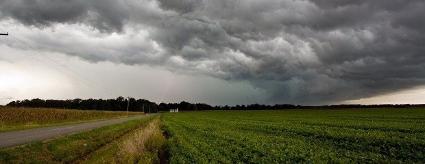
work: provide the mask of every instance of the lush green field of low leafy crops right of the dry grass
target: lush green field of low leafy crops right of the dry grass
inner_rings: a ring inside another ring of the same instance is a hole
[[[425,109],[162,115],[170,163],[424,163]]]

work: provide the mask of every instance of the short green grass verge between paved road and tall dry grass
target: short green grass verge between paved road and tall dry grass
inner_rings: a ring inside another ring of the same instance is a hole
[[[143,126],[147,118],[95,128],[25,146],[0,149],[0,163],[73,163]]]

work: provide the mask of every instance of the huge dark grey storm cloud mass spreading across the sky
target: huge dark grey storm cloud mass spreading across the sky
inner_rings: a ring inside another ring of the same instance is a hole
[[[130,35],[143,29],[145,38],[124,46],[64,53],[247,80],[267,91],[270,103],[340,102],[425,85],[424,1],[14,0],[0,6],[4,18],[38,28],[84,24]]]

